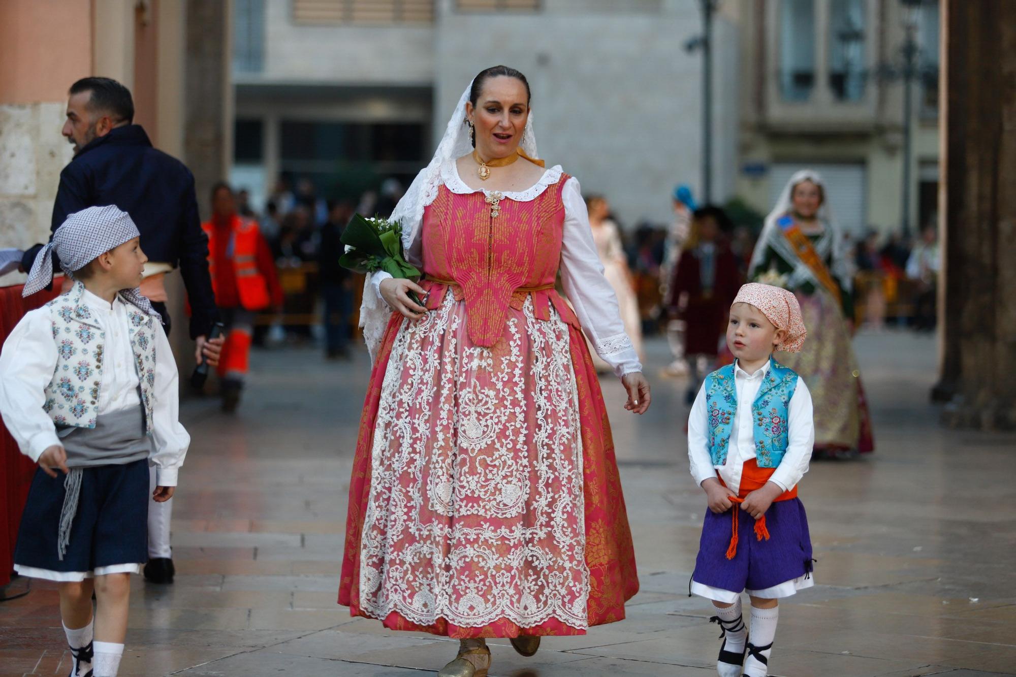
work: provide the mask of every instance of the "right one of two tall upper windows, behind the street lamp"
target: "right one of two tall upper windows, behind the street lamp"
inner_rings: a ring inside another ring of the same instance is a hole
[[[839,101],[865,95],[865,0],[829,4],[829,88]]]

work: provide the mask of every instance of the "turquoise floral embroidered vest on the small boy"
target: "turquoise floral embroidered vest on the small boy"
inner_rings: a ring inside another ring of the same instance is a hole
[[[798,374],[772,358],[759,393],[752,404],[755,420],[755,459],[759,468],[776,468],[787,445],[787,409],[798,387]],[[709,455],[714,466],[726,463],[738,390],[734,365],[728,364],[705,377],[706,412],[709,417]]]

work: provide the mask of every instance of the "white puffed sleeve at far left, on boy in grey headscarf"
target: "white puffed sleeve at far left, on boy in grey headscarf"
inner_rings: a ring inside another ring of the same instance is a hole
[[[25,313],[0,353],[0,414],[21,453],[35,461],[51,446],[63,446],[43,410],[46,386],[57,368],[57,345],[49,308]]]

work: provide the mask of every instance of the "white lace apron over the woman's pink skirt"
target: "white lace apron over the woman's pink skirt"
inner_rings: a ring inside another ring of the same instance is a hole
[[[385,372],[360,604],[420,625],[588,625],[582,448],[569,329],[532,301],[494,348],[453,295],[403,321]]]

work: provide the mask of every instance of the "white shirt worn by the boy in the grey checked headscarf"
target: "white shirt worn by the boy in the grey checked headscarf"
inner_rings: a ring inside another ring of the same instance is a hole
[[[99,416],[140,407],[140,382],[127,331],[128,304],[118,296],[111,305],[87,290],[82,293],[81,302],[87,304],[93,320],[106,333]],[[179,420],[177,364],[170,342],[162,328],[152,334],[156,356],[151,421],[154,451],[149,464],[155,467],[158,486],[175,487],[190,435]],[[62,446],[56,425],[43,411],[44,389],[53,379],[56,367],[57,346],[53,341],[50,310],[44,306],[28,311],[0,351],[0,414],[21,453],[37,463],[48,447]]]

